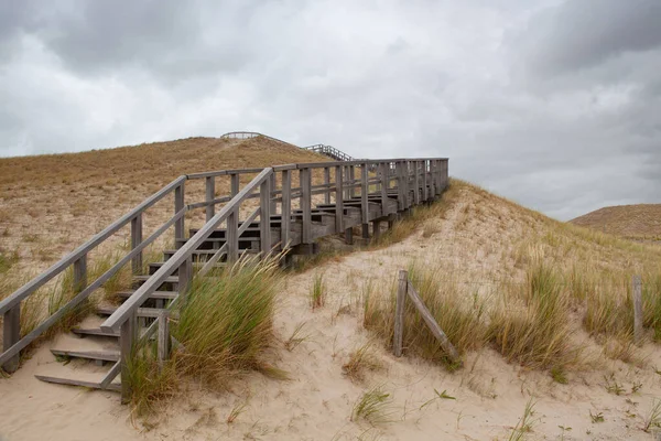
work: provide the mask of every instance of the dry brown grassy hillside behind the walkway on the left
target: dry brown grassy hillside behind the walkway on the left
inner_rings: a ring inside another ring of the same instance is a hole
[[[12,256],[14,270],[36,272],[182,174],[321,161],[328,159],[264,138],[188,138],[82,153],[3,158],[0,255],[4,260]],[[203,180],[189,182],[186,197],[201,201],[203,185]],[[223,185],[216,189],[217,194],[227,191]],[[149,217],[145,228],[171,215],[172,204],[162,205],[155,207],[162,215]]]

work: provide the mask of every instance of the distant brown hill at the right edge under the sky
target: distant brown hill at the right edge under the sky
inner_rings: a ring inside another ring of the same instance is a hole
[[[633,239],[661,239],[661,204],[609,206],[570,222]]]

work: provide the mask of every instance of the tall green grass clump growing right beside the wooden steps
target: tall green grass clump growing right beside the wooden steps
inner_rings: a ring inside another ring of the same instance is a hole
[[[280,280],[277,257],[242,259],[224,271],[195,278],[185,301],[173,311],[171,334],[178,345],[171,358],[160,368],[153,347],[136,349],[129,376],[136,415],[149,413],[189,380],[223,389],[248,370],[283,378],[263,359],[273,343]]]

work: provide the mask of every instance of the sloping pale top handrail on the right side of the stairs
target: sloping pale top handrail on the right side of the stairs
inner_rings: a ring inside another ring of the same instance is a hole
[[[264,180],[273,173],[273,169],[267,168],[258,174],[248,185],[246,185],[230,202],[228,202],[204,227],[202,227],[186,244],[184,244],[153,276],[149,278],[131,297],[122,303],[117,311],[112,313],[101,324],[101,330],[105,332],[116,332],[119,327],[136,312],[136,310],[144,303],[149,295],[154,292],[163,281],[170,277],[175,269],[191,257],[194,250],[206,240],[216,227],[224,222],[229,214],[238,209],[238,206],[246,200],[250,193]],[[180,287],[182,289],[182,287]]]

